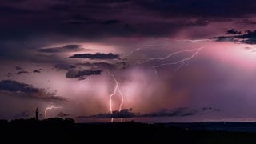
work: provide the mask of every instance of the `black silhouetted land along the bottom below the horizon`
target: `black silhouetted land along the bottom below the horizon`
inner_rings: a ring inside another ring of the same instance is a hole
[[[19,143],[256,143],[256,132],[207,127],[246,123],[74,123],[72,119],[0,121],[2,141]],[[256,126],[255,123],[248,124]],[[247,127],[247,126],[246,126]],[[246,129],[246,127],[244,127]],[[2,143],[2,142],[1,142]]]

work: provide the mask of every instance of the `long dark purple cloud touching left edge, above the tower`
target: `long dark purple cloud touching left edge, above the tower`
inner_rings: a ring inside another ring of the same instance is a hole
[[[3,94],[16,96],[18,98],[38,99],[50,102],[66,101],[65,98],[56,96],[55,93],[49,93],[44,89],[38,89],[34,86],[13,80],[0,81],[0,91]]]

